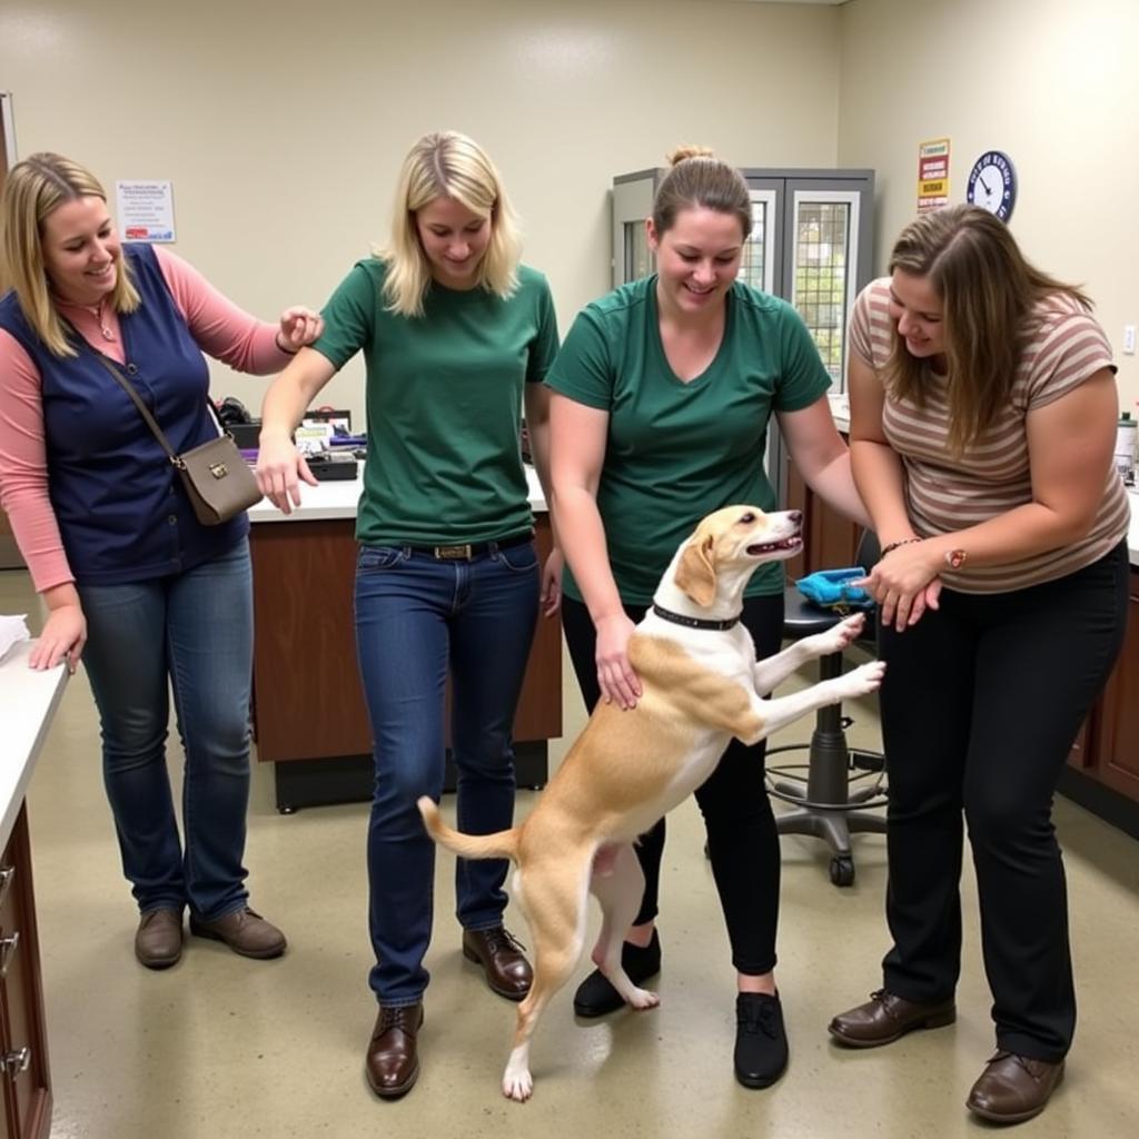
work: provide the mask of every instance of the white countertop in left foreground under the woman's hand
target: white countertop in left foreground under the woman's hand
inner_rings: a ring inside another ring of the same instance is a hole
[[[13,646],[0,662],[0,849],[8,845],[27,794],[35,759],[67,682],[66,665],[49,672],[27,666],[33,641]]]

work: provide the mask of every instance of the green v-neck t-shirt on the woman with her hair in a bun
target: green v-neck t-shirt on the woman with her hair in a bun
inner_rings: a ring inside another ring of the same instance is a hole
[[[621,598],[647,605],[677,547],[706,514],[736,502],[764,510],[772,411],[798,411],[830,386],[818,349],[785,301],[736,281],[723,342],[707,370],[681,383],[661,343],[656,276],[587,305],[546,383],[609,413],[597,490]],[[782,591],[782,565],[761,566],[748,596]],[[565,591],[581,600],[566,572]]]

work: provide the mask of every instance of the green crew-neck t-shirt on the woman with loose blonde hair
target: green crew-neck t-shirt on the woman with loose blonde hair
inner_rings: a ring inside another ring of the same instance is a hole
[[[533,525],[518,428],[524,383],[558,349],[546,278],[525,265],[507,300],[432,284],[417,318],[387,312],[384,262],[358,261],[325,305],[313,347],[339,370],[363,352],[368,457],[357,513],[366,546],[485,542]]]

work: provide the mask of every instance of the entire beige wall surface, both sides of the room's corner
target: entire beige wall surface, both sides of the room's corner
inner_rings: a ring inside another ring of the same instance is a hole
[[[917,144],[952,140],[951,198],[1008,151],[1013,229],[1084,282],[1120,363],[1139,364],[1134,0],[3,0],[0,89],[21,154],[170,178],[175,248],[249,310],[321,304],[384,235],[408,146],[453,126],[502,167],[526,260],[563,328],[608,285],[607,190],[678,141],[741,165],[877,171],[877,264],[913,216]],[[163,13],[159,17],[156,13]],[[353,362],[328,398],[358,412]],[[215,368],[215,392],[261,384]]]

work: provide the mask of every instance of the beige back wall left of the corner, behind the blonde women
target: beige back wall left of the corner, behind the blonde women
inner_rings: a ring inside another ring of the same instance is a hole
[[[253,13],[257,13],[254,15]],[[271,13],[271,18],[261,15]],[[22,155],[171,179],[178,253],[270,317],[323,303],[386,230],[396,170],[454,128],[501,167],[563,328],[609,284],[607,190],[679,141],[830,166],[839,9],[646,0],[3,0]],[[327,390],[362,415],[362,370]],[[254,408],[262,384],[215,368]]]

